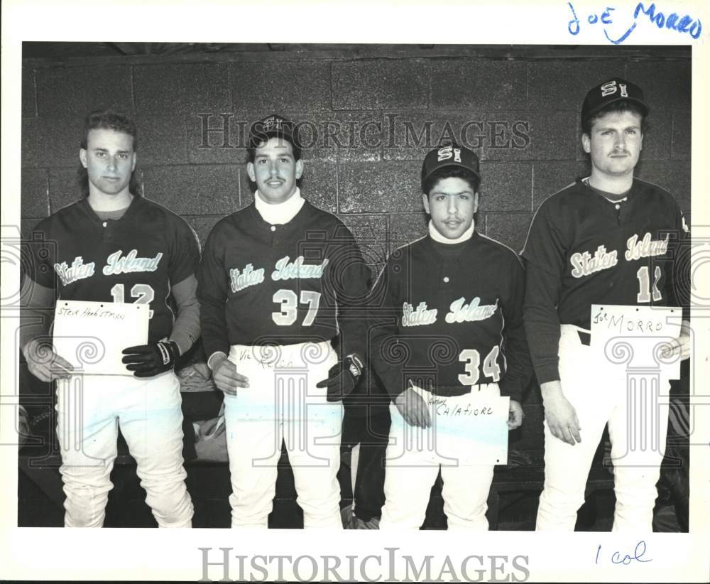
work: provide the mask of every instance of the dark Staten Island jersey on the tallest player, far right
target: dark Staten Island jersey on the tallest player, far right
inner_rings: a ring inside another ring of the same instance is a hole
[[[582,180],[545,200],[522,253],[538,382],[559,379],[559,325],[589,329],[591,304],[681,305],[674,284],[687,276],[674,259],[683,239],[677,202],[638,178],[626,201],[610,202]]]

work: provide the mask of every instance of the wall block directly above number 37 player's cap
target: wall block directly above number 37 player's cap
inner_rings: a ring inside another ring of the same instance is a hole
[[[273,112],[330,109],[330,64],[325,61],[234,63],[231,97],[234,112],[250,112],[251,121]]]

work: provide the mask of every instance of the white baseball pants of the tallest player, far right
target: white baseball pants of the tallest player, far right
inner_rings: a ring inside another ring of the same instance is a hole
[[[581,443],[555,438],[545,421],[545,487],[536,529],[574,531],[591,462],[608,424],[616,493],[612,531],[650,533],[668,427],[668,380],[652,372],[643,375],[642,383],[626,372],[600,379],[580,330],[561,327],[559,377],[564,396],[577,411]]]

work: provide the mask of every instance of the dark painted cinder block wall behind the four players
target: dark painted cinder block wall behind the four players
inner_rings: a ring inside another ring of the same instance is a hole
[[[481,157],[478,229],[520,250],[545,197],[587,171],[579,146],[586,90],[621,75],[652,108],[638,175],[690,211],[690,52],[644,48],[398,48],[207,57],[25,60],[23,233],[77,198],[82,118],[132,114],[148,198],[204,241],[247,205],[244,133],[273,111],[302,122],[302,192],[336,212],[368,262],[425,232],[418,176],[440,138],[463,131]],[[429,134],[427,136],[427,129]]]

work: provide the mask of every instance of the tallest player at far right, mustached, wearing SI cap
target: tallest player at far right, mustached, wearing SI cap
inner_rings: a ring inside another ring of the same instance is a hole
[[[545,406],[538,530],[574,529],[608,424],[615,460],[613,530],[651,531],[662,453],[629,448],[628,424],[643,413],[626,406],[626,378],[599,378],[589,346],[593,303],[679,303],[674,242],[684,231],[682,213],[669,193],[633,176],[648,112],[640,87],[623,79],[589,90],[581,109],[581,144],[591,174],[542,203],[525,242],[525,330]],[[683,358],[689,356],[688,326],[684,322],[674,346]],[[643,423],[665,445],[667,405],[660,404],[658,413],[660,426],[650,419]]]

